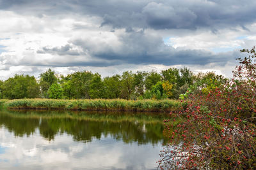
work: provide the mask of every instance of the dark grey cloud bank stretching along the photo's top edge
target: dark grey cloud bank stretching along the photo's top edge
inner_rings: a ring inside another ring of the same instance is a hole
[[[256,20],[256,1],[253,0],[2,0],[0,8],[35,16],[70,13],[97,16],[102,18],[102,26],[113,28],[219,29],[237,25],[246,28],[246,24]]]

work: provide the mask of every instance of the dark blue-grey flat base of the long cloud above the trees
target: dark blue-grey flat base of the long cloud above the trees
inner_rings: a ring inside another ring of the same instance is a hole
[[[96,57],[106,60],[120,61],[120,63],[129,64],[163,64],[164,66],[177,64],[195,64],[202,65],[216,63],[219,66],[225,66],[228,60],[234,60],[239,55],[236,52],[214,54],[204,50],[175,50],[170,49],[165,52],[154,53],[132,53],[130,55],[117,53],[97,53]],[[111,63],[109,63],[111,64]]]

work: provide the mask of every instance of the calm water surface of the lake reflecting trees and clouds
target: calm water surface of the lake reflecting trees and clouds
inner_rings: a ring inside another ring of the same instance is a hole
[[[0,111],[0,169],[156,169],[159,113]]]

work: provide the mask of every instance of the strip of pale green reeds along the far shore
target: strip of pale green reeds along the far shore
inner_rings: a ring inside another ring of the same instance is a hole
[[[94,111],[175,111],[181,104],[176,100],[137,100],[124,99],[15,99],[3,101],[10,109],[46,109],[46,110],[94,110]]]

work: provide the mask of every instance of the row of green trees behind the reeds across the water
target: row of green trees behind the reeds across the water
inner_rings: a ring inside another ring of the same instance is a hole
[[[194,74],[187,67],[170,67],[161,73],[125,71],[104,78],[91,71],[77,71],[63,76],[48,69],[40,74],[38,80],[35,76],[15,74],[8,80],[0,81],[0,98],[177,99],[196,82],[205,80],[208,88],[216,83],[212,80],[218,79],[214,73]]]

